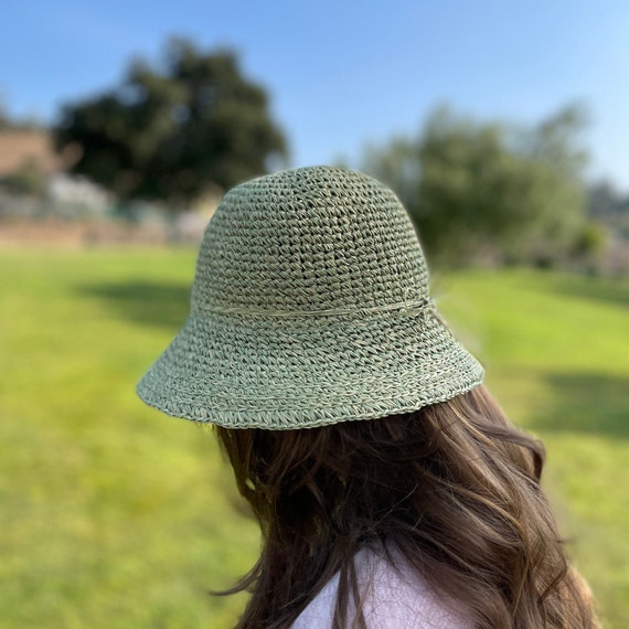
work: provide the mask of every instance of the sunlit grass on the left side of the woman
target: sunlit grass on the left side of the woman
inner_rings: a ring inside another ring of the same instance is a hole
[[[228,627],[242,599],[206,593],[249,567],[257,531],[212,436],[134,394],[185,317],[193,254],[1,264],[0,626]]]

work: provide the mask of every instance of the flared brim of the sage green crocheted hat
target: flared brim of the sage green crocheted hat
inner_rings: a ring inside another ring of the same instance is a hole
[[[281,430],[408,413],[482,376],[433,307],[317,318],[198,312],[137,392],[174,417]]]

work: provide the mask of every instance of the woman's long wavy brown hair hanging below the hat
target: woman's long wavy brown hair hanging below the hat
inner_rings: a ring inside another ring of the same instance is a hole
[[[364,627],[352,557],[392,543],[479,629],[598,627],[540,489],[543,446],[479,386],[382,419],[297,430],[216,428],[262,526],[239,628],[287,628],[340,573]]]

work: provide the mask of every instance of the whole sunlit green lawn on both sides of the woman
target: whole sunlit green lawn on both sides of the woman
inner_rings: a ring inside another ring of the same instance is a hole
[[[186,316],[195,252],[0,253],[0,627],[225,628],[258,535],[213,437],[134,386]],[[629,281],[436,278],[511,417],[606,627],[629,618]]]

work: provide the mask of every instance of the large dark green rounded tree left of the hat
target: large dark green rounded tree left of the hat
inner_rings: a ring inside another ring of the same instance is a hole
[[[57,148],[78,147],[72,167],[121,199],[188,203],[263,174],[287,147],[265,90],[245,79],[233,52],[173,40],[162,64],[134,61],[122,84],[63,107]]]

